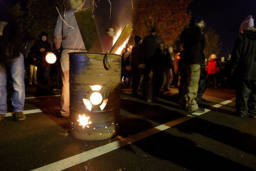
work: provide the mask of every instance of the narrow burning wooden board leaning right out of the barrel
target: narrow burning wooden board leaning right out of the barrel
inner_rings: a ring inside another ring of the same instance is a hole
[[[132,28],[129,24],[126,24],[126,26],[124,27],[124,30],[122,31],[122,33],[120,34],[119,38],[116,40],[116,43],[114,44],[114,46],[111,48],[111,50],[109,51],[109,53],[116,53],[116,51],[118,50],[118,48],[120,46],[122,46],[122,44],[124,43],[124,41],[126,41],[126,39],[129,37],[129,35],[132,32]]]

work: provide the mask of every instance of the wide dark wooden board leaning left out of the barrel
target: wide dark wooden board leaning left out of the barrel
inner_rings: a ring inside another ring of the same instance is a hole
[[[88,52],[102,52],[100,38],[92,13],[92,8],[86,8],[74,13],[76,22]]]

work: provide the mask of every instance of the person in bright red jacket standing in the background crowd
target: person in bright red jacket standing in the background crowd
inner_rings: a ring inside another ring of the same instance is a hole
[[[206,71],[207,71],[207,76],[206,79],[209,80],[210,79],[214,79],[214,88],[217,88],[217,72],[219,71],[219,67],[218,67],[218,62],[217,62],[217,56],[216,54],[211,54],[210,55],[210,61],[208,62],[207,66],[206,66]]]

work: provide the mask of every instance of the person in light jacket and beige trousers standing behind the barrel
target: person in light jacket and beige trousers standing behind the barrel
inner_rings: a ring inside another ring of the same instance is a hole
[[[69,55],[70,52],[85,52],[86,48],[81,33],[74,16],[74,12],[82,9],[82,0],[69,0],[72,10],[62,12],[58,16],[54,30],[54,43],[56,50],[61,48],[61,68],[62,68],[62,92],[60,101],[60,113],[56,117],[69,117]],[[62,20],[68,23],[68,25]],[[71,28],[72,26],[73,28]]]

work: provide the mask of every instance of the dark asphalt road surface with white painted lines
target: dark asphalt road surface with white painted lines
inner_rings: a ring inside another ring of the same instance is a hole
[[[234,89],[207,88],[205,113],[178,105],[175,87],[146,102],[121,93],[118,135],[86,141],[72,137],[69,119],[55,117],[60,91],[35,97],[26,88],[24,121],[0,121],[0,170],[187,171],[256,170],[256,119],[235,115]]]

